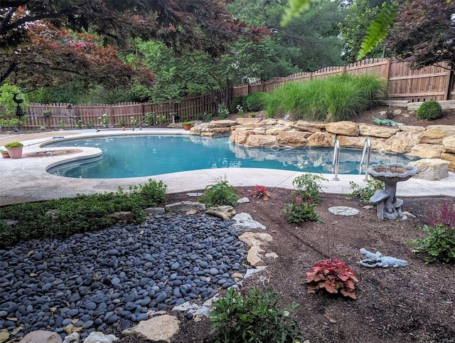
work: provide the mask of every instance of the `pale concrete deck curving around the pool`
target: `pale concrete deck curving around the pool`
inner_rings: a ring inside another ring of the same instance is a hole
[[[188,134],[182,129],[144,128],[143,130],[68,130],[56,132],[41,132],[36,134],[0,134],[0,147],[7,142],[22,142],[23,158],[0,159],[0,206],[27,201],[58,199],[76,194],[93,194],[104,191],[117,191],[121,186],[128,189],[130,185],[144,184],[149,179],[162,180],[168,185],[168,193],[196,191],[224,178],[232,186],[280,187],[294,189],[292,181],[303,174],[302,171],[285,171],[277,169],[258,168],[223,168],[202,169],[196,171],[181,171],[172,174],[134,177],[127,179],[71,179],[49,174],[47,170],[62,162],[77,161],[100,154],[99,149],[81,148],[82,152],[53,157],[27,157],[32,152],[80,149],[68,147],[40,147],[41,144],[55,141],[60,137],[82,138],[115,134]],[[348,194],[352,191],[349,182],[354,181],[365,186],[363,175],[338,175],[339,181],[333,181],[333,174],[323,174],[328,181],[321,182],[325,193]],[[440,181],[427,181],[411,178],[397,184],[397,196],[455,196],[455,174]]]

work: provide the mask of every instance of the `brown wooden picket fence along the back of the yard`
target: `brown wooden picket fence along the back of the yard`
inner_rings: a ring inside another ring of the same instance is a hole
[[[390,58],[370,58],[350,65],[327,67],[313,73],[296,73],[285,78],[272,78],[245,85],[236,85],[230,90],[228,102],[232,97],[250,95],[257,92],[269,92],[288,82],[326,78],[331,75],[348,73],[349,75],[374,74],[387,80],[389,99],[403,102],[422,102],[427,100],[455,100],[454,73],[451,73],[447,63],[441,66],[425,67],[412,70],[405,62],[397,62]],[[117,105],[70,105],[70,104],[31,104],[26,110],[23,128],[38,130],[45,128],[76,127],[77,120],[93,127],[103,127],[100,117],[106,114],[109,125],[119,127],[122,122],[127,127],[134,127],[135,122],[142,122],[148,113],[162,116],[164,124],[172,122],[173,115],[178,121],[195,120],[204,113],[215,113],[218,109],[216,99],[222,99],[221,93],[186,97],[180,102],[164,102],[162,104],[125,102]],[[50,115],[43,115],[43,111],[50,111]],[[153,124],[155,119],[149,123]],[[82,125],[82,127],[86,127]]]

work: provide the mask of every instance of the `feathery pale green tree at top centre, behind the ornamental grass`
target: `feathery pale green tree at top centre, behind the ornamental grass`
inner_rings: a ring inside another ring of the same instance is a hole
[[[277,51],[277,60],[299,71],[313,71],[328,65],[340,65],[341,41],[338,23],[344,11],[340,2],[321,0],[301,16],[281,26],[287,1],[237,0],[229,4],[232,14],[252,25],[269,29]],[[274,76],[284,76],[283,75]]]

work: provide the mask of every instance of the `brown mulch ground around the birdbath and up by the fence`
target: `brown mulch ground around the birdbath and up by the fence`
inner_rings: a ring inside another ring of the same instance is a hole
[[[455,112],[444,111],[439,120],[418,120],[405,109],[376,107],[358,116],[356,122],[372,123],[373,117],[387,119],[383,111],[399,110],[392,119],[407,125],[454,125]],[[406,221],[382,220],[376,210],[360,206],[358,199],[343,194],[323,194],[316,211],[322,223],[287,223],[282,216],[292,190],[269,189],[268,201],[253,199],[253,187],[237,188],[239,197],[250,203],[238,204],[237,213],[246,212],[267,226],[265,232],[274,241],[265,249],[279,258],[267,261],[264,273],[244,281],[241,292],[252,287],[278,292],[280,307],[292,303],[299,307],[292,314],[306,342],[455,342],[455,266],[444,263],[425,265],[422,256],[412,253],[406,244],[412,238],[425,237],[422,226],[429,222],[442,204],[454,205],[453,198],[406,198],[403,211],[412,214]],[[202,190],[201,190],[202,191]],[[455,193],[454,193],[455,194]],[[167,203],[188,200],[186,194],[169,194]],[[335,216],[331,206],[351,206],[358,216]],[[402,268],[365,268],[359,249],[407,260]],[[357,300],[307,292],[306,272],[314,263],[338,258],[355,270],[360,283],[355,285]],[[172,343],[210,342],[210,322],[186,320],[181,314],[181,331]],[[122,343],[144,342],[124,337]]]

